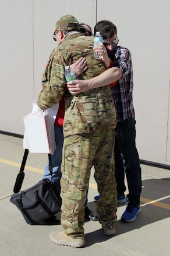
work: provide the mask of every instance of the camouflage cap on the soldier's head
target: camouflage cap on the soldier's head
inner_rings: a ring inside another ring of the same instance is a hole
[[[69,26],[70,23],[75,23],[75,26]],[[61,30],[79,30],[79,22],[78,20],[72,16],[72,15],[65,15],[62,16],[55,24],[55,31],[61,29]]]

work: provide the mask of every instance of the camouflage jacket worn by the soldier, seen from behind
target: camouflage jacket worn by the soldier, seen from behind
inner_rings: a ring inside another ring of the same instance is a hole
[[[68,135],[87,132],[87,130],[91,132],[91,130],[94,130],[95,125],[93,124],[97,124],[104,119],[105,121],[109,120],[108,127],[115,127],[116,124],[115,107],[109,85],[90,89],[76,96],[70,95],[68,90],[65,89],[65,66],[68,65],[69,58],[72,59],[72,63],[75,63],[80,57],[86,57],[88,68],[78,79],[90,79],[105,71],[104,63],[101,60],[95,60],[93,54],[93,37],[80,36],[80,33],[70,32],[62,43],[52,51],[42,77],[42,91],[38,96],[37,104],[41,109],[47,109],[53,104],[59,103],[64,94],[68,101],[66,101],[63,130]],[[84,103],[86,103],[86,106]],[[99,106],[99,103],[101,103],[101,106]],[[82,119],[82,117],[85,119]],[[78,127],[75,120],[78,123],[85,123],[85,126],[83,124],[83,128]],[[73,126],[77,126],[74,131]],[[107,129],[107,127],[105,128]]]

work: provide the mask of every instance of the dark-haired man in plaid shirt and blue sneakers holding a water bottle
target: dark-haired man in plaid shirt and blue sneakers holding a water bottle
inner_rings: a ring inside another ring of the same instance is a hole
[[[101,20],[94,27],[95,32],[99,31],[103,38],[103,45],[95,47],[95,51],[102,55],[107,68],[112,66],[120,68],[122,77],[116,85],[111,88],[112,98],[116,108],[116,136],[115,136],[115,179],[117,183],[117,202],[126,202],[126,210],[121,220],[133,222],[140,213],[141,194],[141,168],[139,154],[136,148],[136,129],[133,107],[133,68],[130,51],[118,46],[116,26],[109,20]],[[106,71],[105,71],[106,72]],[[112,72],[112,70],[108,70]],[[112,73],[111,73],[112,74]],[[114,78],[114,74],[113,74]],[[94,80],[97,78],[94,78]],[[105,79],[108,79],[106,77]],[[93,80],[93,81],[94,81]],[[97,80],[98,85],[100,79]],[[101,82],[104,78],[101,79]],[[81,87],[81,86],[82,87]],[[68,83],[69,91],[72,94],[86,91],[93,88],[86,81],[73,81]],[[103,84],[101,84],[102,86]],[[125,174],[129,193],[125,198]],[[100,195],[95,196],[100,201]]]

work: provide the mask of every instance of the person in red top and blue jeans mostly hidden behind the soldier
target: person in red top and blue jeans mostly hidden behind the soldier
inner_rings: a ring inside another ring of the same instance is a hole
[[[91,27],[81,23],[80,24],[80,33],[84,36],[91,36]],[[56,41],[55,34],[52,37],[54,41]],[[69,60],[70,69],[73,73],[76,74],[76,77],[78,77],[82,72],[86,71],[87,69],[87,61],[86,58],[80,57],[79,60],[76,61],[76,63],[71,64],[71,59]],[[44,169],[43,179],[49,179],[52,181],[55,185],[56,190],[61,193],[61,162],[62,162],[62,147],[63,147],[63,119],[65,114],[65,99],[62,97],[61,101],[59,102],[58,106],[58,112],[56,114],[55,123],[54,123],[54,131],[55,131],[55,144],[56,148],[54,151],[54,154],[51,155],[51,161],[52,161],[52,179],[51,174],[49,171],[49,165],[47,164]],[[88,195],[88,189],[87,189],[87,195]],[[84,220],[98,220],[97,213],[91,211],[87,206],[88,199],[86,197],[85,207],[84,207]],[[58,217],[52,216],[48,219],[45,219],[39,224],[51,224],[51,225],[58,225],[60,224]]]

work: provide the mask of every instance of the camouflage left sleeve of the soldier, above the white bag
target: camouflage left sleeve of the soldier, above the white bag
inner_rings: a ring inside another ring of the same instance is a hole
[[[42,75],[42,90],[38,95],[37,105],[45,110],[61,101],[65,91],[65,70],[60,63],[61,58],[57,50],[49,57],[47,67]]]

